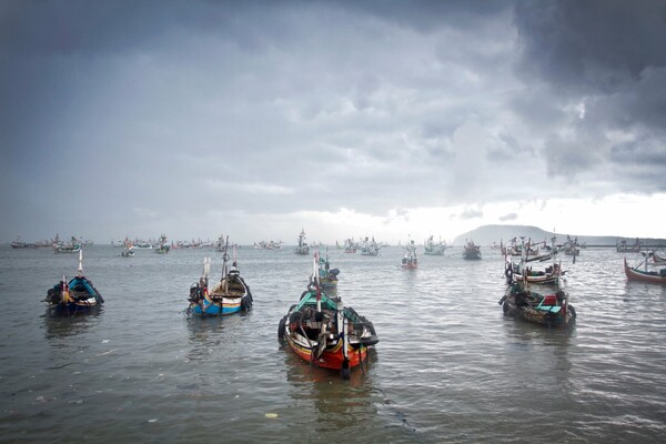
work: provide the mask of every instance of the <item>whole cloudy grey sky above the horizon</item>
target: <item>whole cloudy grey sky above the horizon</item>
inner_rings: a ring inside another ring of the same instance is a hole
[[[666,238],[666,2],[0,0],[0,242]]]

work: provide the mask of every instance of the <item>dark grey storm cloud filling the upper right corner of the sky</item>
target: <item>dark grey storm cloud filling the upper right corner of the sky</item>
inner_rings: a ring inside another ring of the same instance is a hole
[[[549,132],[549,174],[604,174],[597,165],[618,162],[627,139],[647,151],[666,145],[664,1],[524,1],[515,23],[523,51],[517,72],[534,88],[516,98],[514,110]],[[644,169],[652,178],[663,171],[659,163]],[[640,178],[633,179],[617,188],[640,188]]]

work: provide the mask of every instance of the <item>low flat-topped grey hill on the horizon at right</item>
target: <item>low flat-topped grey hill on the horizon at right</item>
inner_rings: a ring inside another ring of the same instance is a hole
[[[573,239],[578,238],[579,243],[585,243],[589,246],[615,246],[618,241],[627,241],[627,243],[634,243],[636,238],[624,238],[624,236],[592,236],[592,235],[577,235],[576,233],[554,233],[552,231],[545,231],[537,226],[532,225],[482,225],[477,229],[460,234],[453,241],[454,245],[463,245],[466,240],[474,241],[477,245],[492,245],[494,243],[500,244],[501,241],[506,243],[513,238],[524,236],[525,240],[532,239],[533,242],[546,241],[551,244],[551,238],[555,235],[556,243],[563,243],[567,236],[571,235]],[[649,239],[639,238],[640,243],[647,246],[666,245],[664,239]]]

